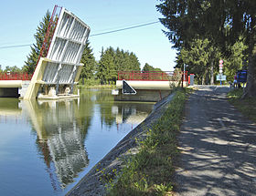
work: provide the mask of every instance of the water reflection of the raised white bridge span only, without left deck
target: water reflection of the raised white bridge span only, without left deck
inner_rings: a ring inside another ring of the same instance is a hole
[[[48,166],[54,189],[58,182],[52,175],[54,163],[60,186],[64,188],[88,165],[84,139],[91,125],[92,104],[78,100],[47,101],[34,103],[31,118],[37,131],[37,149]],[[90,115],[89,115],[90,114]]]

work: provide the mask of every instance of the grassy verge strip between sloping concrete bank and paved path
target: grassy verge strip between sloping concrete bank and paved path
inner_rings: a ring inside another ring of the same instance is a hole
[[[172,194],[175,162],[179,154],[176,135],[183,118],[185,100],[185,90],[176,91],[165,114],[141,141],[139,152],[127,162],[115,183],[109,181],[108,195]]]

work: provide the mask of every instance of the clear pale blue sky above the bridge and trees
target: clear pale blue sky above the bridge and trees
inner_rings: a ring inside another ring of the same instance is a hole
[[[141,26],[112,34],[93,36],[112,30],[138,26],[158,21],[157,0],[8,0],[0,3],[0,65],[23,67],[35,43],[37,26],[54,5],[64,6],[91,27],[89,41],[96,60],[101,48],[119,47],[133,52],[141,64],[159,67],[164,71],[174,69],[176,50],[163,33],[161,23]],[[14,47],[7,47],[14,46]]]

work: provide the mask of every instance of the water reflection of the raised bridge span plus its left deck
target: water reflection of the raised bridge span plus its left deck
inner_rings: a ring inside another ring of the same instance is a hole
[[[26,119],[36,130],[37,150],[48,167],[54,190],[64,188],[89,164],[84,147],[87,129],[76,117],[77,110],[77,100],[0,101],[1,122],[20,124]]]

